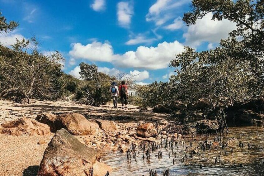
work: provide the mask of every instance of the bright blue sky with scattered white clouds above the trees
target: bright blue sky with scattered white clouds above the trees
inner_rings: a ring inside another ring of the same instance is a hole
[[[139,84],[167,81],[174,74],[169,61],[189,45],[213,49],[235,29],[227,20],[212,21],[208,14],[196,25],[182,21],[190,0],[0,0],[7,21],[18,21],[13,32],[1,35],[2,45],[35,35],[40,52],[60,51],[64,72],[78,77],[79,63],[96,64],[116,75],[120,70]]]

